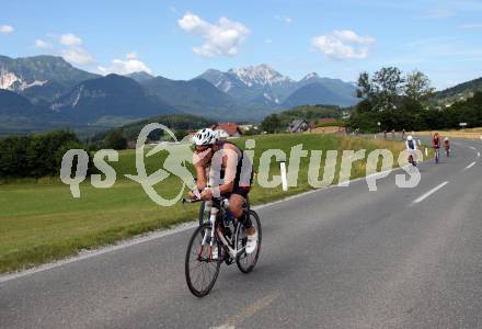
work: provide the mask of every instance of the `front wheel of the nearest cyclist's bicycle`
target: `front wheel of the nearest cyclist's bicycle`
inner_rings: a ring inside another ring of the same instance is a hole
[[[216,283],[221,265],[221,245],[217,242],[216,235],[213,247],[210,242],[210,225],[204,224],[194,231],[187,245],[185,260],[185,275],[187,287],[196,297],[209,294]],[[205,235],[206,238],[205,238]],[[203,243],[204,242],[204,243]],[[217,258],[213,252],[217,248]]]

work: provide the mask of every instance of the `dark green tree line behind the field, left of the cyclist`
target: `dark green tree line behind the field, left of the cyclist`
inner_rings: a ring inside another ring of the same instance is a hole
[[[0,181],[58,175],[62,157],[69,149],[84,149],[89,155],[101,148],[126,149],[128,140],[136,141],[141,128],[152,122],[172,128],[179,140],[187,135],[188,129],[206,127],[213,123],[211,120],[193,115],[161,115],[100,133],[87,141],[81,141],[73,132],[66,129],[0,138]],[[162,135],[163,132],[158,129],[149,135],[149,139],[158,140]],[[89,163],[93,163],[92,159]],[[89,170],[91,173],[94,168]]]

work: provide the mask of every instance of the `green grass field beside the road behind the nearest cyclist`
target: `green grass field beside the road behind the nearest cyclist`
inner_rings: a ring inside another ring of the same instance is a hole
[[[252,137],[251,137],[252,138]],[[244,146],[246,138],[233,140]],[[298,144],[308,150],[367,149],[377,148],[400,151],[400,141],[385,141],[365,138],[349,138],[335,135],[271,135],[256,136],[254,168],[259,156],[265,149],[279,148],[289,154]],[[160,167],[163,155],[146,160],[148,171]],[[341,154],[340,154],[341,157]],[[340,162],[340,161],[338,161]],[[322,159],[322,166],[324,159]],[[136,174],[135,151],[119,152],[119,161],[112,163],[117,181],[111,189],[95,189],[89,182],[81,185],[81,198],[73,198],[68,185],[58,179],[43,179],[36,182],[20,180],[0,185],[0,273],[25,269],[48,261],[77,254],[80,250],[113,243],[120,239],[168,228],[175,224],[193,220],[196,205],[176,204],[160,207],[154,204],[142,188],[126,178],[124,173]],[[340,163],[338,163],[340,166]],[[338,168],[337,168],[338,169]],[[279,174],[278,164],[272,162],[272,172]],[[320,170],[320,175],[323,168]],[[365,175],[365,161],[357,161],[352,178]],[[301,160],[297,188],[288,192],[277,189],[262,189],[255,185],[250,193],[252,204],[266,203],[311,190],[308,184],[308,159]],[[335,174],[335,180],[337,171]],[[180,180],[173,177],[157,186],[161,195],[176,194]],[[186,241],[187,242],[187,241]]]

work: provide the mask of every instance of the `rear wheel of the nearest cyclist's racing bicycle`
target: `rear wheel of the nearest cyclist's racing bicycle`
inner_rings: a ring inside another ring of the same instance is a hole
[[[243,273],[250,273],[253,271],[254,266],[256,265],[257,259],[260,258],[260,251],[261,251],[261,241],[262,241],[262,230],[261,230],[261,222],[260,217],[254,211],[249,211],[248,214],[250,215],[251,223],[256,228],[257,231],[257,243],[256,249],[248,254],[245,251],[243,251],[240,256],[237,257],[236,263],[238,265],[238,269]],[[245,227],[242,224],[241,227],[238,229],[238,250],[244,248],[246,246],[248,241],[248,232]]]

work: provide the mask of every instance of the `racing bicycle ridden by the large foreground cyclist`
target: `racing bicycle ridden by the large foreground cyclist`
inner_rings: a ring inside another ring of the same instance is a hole
[[[183,203],[202,202],[200,200],[182,200]],[[213,198],[202,202],[199,226],[190,239],[185,259],[186,283],[193,295],[204,297],[214,287],[221,263],[231,265],[234,262],[242,273],[250,273],[256,265],[261,251],[262,231],[257,214],[250,209],[249,201],[243,205],[244,216],[250,216],[257,230],[256,249],[245,252],[248,234],[244,225],[227,213],[226,198]],[[207,220],[204,214],[208,213]]]

